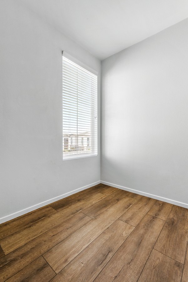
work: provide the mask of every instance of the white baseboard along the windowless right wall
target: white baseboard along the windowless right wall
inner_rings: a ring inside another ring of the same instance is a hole
[[[170,204],[173,204],[173,205],[176,205],[176,206],[188,208],[188,204],[181,203],[181,202],[178,202],[178,201],[175,201],[175,200],[171,200],[171,199],[168,199],[168,198],[164,198],[164,197],[156,196],[156,195],[153,195],[153,194],[145,193],[145,192],[142,192],[142,191],[134,190],[134,189],[131,189],[131,188],[116,185],[116,184],[109,183],[109,182],[102,181],[102,180],[101,180],[101,183],[106,184],[108,186],[115,187],[115,188],[119,188],[119,189],[122,189],[122,190],[125,190],[125,191],[128,191],[128,192],[133,192],[133,193],[136,193],[136,194],[139,194],[139,195],[142,195],[142,196],[153,198],[153,199],[156,199],[156,200],[159,200],[159,201],[170,203]]]

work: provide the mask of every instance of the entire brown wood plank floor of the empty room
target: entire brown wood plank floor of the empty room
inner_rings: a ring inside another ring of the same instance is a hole
[[[188,281],[188,209],[99,184],[0,225],[0,281]]]

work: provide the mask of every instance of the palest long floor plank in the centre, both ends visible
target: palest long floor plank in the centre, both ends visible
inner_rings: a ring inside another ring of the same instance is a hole
[[[55,272],[58,273],[130,208],[135,201],[128,197],[121,199],[118,203],[99,214],[91,222],[86,223],[74,234],[44,254],[44,258]]]

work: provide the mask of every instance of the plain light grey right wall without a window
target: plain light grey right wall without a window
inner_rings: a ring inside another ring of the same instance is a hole
[[[188,19],[102,61],[101,180],[188,204]]]

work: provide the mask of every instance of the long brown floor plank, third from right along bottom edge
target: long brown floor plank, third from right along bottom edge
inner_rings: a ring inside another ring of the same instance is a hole
[[[163,226],[163,220],[146,214],[95,282],[137,281]]]

